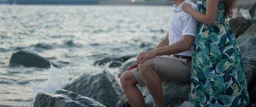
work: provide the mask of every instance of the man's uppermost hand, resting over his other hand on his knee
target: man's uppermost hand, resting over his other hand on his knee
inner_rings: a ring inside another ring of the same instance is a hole
[[[141,52],[140,55],[137,57],[137,65],[139,65],[139,63],[143,63],[146,59],[154,57],[156,57],[155,50]]]

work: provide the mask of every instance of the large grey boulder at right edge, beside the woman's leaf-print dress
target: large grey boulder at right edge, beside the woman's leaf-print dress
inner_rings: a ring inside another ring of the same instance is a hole
[[[256,103],[256,24],[237,38],[247,79],[250,102]]]

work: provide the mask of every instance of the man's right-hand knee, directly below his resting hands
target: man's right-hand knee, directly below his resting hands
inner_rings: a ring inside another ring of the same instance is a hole
[[[153,58],[145,60],[143,63],[140,63],[138,67],[141,74],[144,74],[144,72],[147,72],[148,70],[154,70],[155,63]]]

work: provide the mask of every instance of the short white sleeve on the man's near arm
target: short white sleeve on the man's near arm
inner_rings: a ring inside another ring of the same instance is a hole
[[[198,27],[198,21],[191,14],[184,12],[182,14],[182,22],[183,22],[182,36],[191,35],[195,37],[196,30]]]

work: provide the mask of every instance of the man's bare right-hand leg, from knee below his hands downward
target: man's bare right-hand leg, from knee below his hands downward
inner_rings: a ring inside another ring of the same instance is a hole
[[[148,91],[153,96],[156,107],[164,107],[161,80],[157,72],[154,71],[154,60],[145,60],[143,63],[139,64],[139,70]]]

